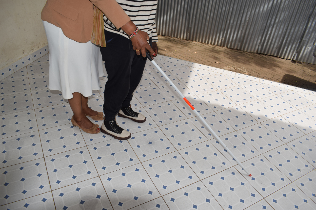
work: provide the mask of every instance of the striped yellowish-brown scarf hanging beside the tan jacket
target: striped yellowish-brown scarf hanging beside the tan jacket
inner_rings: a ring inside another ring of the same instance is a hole
[[[100,9],[93,5],[93,29],[91,32],[91,42],[99,45],[100,47],[106,47],[104,26],[103,26],[103,13]]]

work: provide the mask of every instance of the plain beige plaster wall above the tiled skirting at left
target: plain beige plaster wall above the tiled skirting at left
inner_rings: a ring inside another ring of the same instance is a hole
[[[40,19],[46,0],[0,0],[0,69],[47,45]]]

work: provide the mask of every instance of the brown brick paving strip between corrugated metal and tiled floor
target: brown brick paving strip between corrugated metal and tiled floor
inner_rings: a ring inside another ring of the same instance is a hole
[[[168,36],[158,39],[161,55],[316,91],[315,64]]]

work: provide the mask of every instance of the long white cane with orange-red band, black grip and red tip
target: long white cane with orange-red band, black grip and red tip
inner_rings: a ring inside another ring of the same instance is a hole
[[[184,97],[184,95],[179,91],[179,89],[172,83],[172,81],[167,77],[167,75],[161,70],[161,68],[157,65],[157,63],[150,57],[148,52],[146,53],[147,58],[151,61],[155,67],[159,70],[159,72],[167,79],[170,85],[179,93],[179,95],[183,98],[183,100],[190,106],[193,112],[202,120],[204,125],[211,131],[211,133],[215,136],[217,141],[222,144],[222,147],[227,150],[228,154],[238,163],[238,165],[251,177],[251,173],[249,173],[246,168],[241,164],[239,160],[235,157],[235,155],[228,149],[228,147],[222,142],[222,140],[216,135],[216,133],[211,129],[211,127],[205,122],[202,116],[197,112],[197,110],[192,106],[192,104]]]

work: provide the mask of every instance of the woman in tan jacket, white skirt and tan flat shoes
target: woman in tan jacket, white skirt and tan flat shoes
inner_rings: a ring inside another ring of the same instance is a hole
[[[47,0],[41,13],[50,50],[48,88],[62,92],[74,113],[72,124],[87,133],[100,132],[99,125],[93,124],[87,116],[103,120],[102,112],[88,107],[88,96],[92,90],[100,89],[99,77],[103,76],[99,47],[90,42],[94,6],[113,26],[126,33],[134,31],[135,24],[115,0]],[[102,24],[100,28],[103,30]],[[133,44],[142,50],[151,50],[142,33]]]

